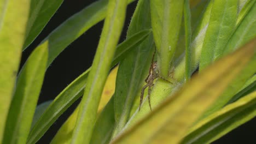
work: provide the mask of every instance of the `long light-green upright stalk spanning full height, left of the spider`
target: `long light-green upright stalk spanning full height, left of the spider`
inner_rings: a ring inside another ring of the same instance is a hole
[[[90,142],[101,93],[114,57],[115,46],[118,44],[123,29],[126,5],[127,1],[124,0],[110,0],[108,3],[107,17],[104,21],[91,72],[86,81],[87,86],[80,104],[71,143]]]

